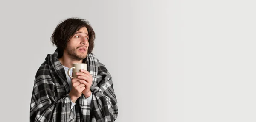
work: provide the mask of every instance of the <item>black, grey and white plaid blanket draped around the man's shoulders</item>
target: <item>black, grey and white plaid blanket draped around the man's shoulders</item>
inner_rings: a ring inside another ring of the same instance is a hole
[[[57,49],[48,54],[39,67],[32,91],[30,122],[114,122],[118,115],[112,77],[92,53],[84,62],[93,76],[92,105],[84,95],[76,101],[76,116],[71,109],[70,92],[64,67],[57,59]]]

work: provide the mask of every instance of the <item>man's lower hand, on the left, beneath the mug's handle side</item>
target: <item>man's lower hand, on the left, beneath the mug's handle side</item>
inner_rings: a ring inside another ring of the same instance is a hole
[[[73,103],[76,103],[76,100],[82,95],[82,92],[85,89],[84,87],[85,85],[83,83],[80,83],[79,80],[80,80],[79,78],[73,78],[71,80],[72,88],[69,93],[69,96]]]

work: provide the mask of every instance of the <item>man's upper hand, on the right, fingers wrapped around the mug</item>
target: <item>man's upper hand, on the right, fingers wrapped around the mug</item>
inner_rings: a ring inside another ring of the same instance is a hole
[[[85,89],[82,91],[82,93],[84,94],[85,98],[90,97],[91,95],[91,91],[90,91],[90,87],[92,86],[93,83],[93,76],[90,74],[90,72],[81,69],[81,72],[77,72],[77,78],[79,78],[79,82],[85,85]]]

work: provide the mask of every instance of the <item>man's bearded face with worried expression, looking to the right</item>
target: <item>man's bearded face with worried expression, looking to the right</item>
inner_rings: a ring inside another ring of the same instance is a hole
[[[82,60],[86,58],[89,47],[89,35],[87,28],[82,27],[76,31],[70,41],[67,42],[67,47],[64,50],[70,58]]]

